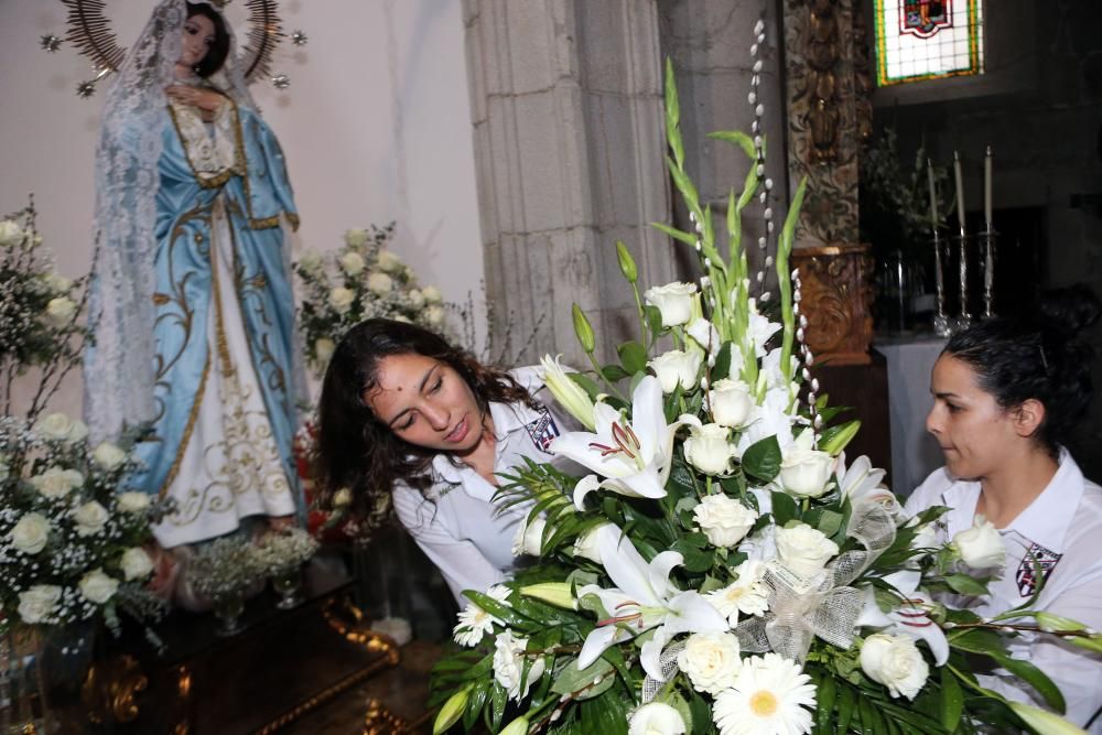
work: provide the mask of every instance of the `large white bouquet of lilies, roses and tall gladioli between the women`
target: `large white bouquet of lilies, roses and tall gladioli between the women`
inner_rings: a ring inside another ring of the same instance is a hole
[[[539,561],[464,592],[463,648],[434,670],[434,732],[461,720],[510,735],[1071,732],[984,689],[973,667],[1005,668],[1059,712],[1059,690],[1007,644],[1028,630],[1100,651],[1102,635],[1029,603],[983,619],[936,602],[987,594],[960,564],[995,566],[997,531],[981,522],[938,544],[927,530],[944,508],[909,518],[879,487],[883,471],[865,457],[846,464],[857,424],[830,425],[838,411],[813,398],[788,264],[804,184],[777,242],[775,322],[757,310],[767,299],[749,295],[738,228],[764,174],[759,144],[713,134],[758,162],[728,199],[724,256],[683,170],[670,66],[666,108],[670,170],[695,231],[659,229],[696,251],[700,292],[673,283],[647,290],[644,305],[617,244],[641,334],[611,365],[573,307],[594,369],[565,374],[550,357],[544,367],[587,431],[562,434],[551,452],[591,474],[530,463],[506,477],[495,500],[529,509],[515,550]],[[670,342],[672,358],[649,356]]]

